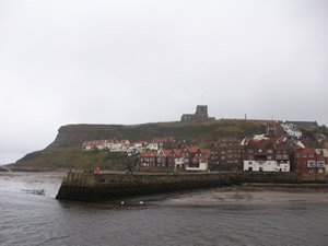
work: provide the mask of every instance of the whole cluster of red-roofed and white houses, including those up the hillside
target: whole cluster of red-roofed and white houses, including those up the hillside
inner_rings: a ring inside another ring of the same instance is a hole
[[[258,122],[259,120],[257,120]],[[221,138],[201,149],[174,137],[155,138],[150,143],[129,140],[94,140],[82,145],[83,151],[109,150],[139,154],[140,167],[179,167],[187,171],[244,171],[325,173],[328,143],[324,149],[307,148],[300,138],[295,122],[261,120],[267,134],[253,134],[239,140]]]

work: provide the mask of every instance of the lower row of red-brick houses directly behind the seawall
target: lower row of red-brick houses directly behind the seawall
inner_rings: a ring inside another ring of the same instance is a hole
[[[328,148],[328,143],[327,143]],[[211,149],[184,144],[181,149],[161,149],[140,154],[141,167],[180,167],[187,171],[244,171],[325,173],[328,150],[306,148],[288,138],[220,139]]]

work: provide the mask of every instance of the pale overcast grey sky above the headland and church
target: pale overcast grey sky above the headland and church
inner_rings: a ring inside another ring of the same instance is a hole
[[[69,124],[328,125],[327,0],[0,0],[0,164]]]

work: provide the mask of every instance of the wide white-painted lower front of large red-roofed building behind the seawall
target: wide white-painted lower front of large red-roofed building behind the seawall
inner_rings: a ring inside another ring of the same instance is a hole
[[[290,161],[244,161],[245,172],[290,172]]]

